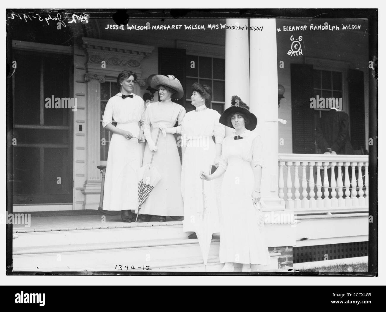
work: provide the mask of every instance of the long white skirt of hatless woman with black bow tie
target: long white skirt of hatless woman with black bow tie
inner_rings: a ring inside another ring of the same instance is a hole
[[[138,122],[118,123],[117,128],[130,131],[134,136],[139,134]],[[107,156],[103,210],[138,208],[137,169],[141,166],[142,150],[137,139],[112,135]]]

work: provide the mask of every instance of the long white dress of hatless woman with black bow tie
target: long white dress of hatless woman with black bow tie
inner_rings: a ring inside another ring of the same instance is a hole
[[[144,101],[138,95],[122,98],[117,93],[106,104],[103,127],[117,122],[117,128],[130,131],[138,137],[144,123]],[[142,146],[137,139],[125,139],[113,134],[108,148],[103,210],[135,210],[138,208],[138,179],[136,170],[142,162]]]

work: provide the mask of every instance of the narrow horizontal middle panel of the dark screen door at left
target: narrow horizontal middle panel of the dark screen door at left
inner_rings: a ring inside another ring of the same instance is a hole
[[[68,130],[14,129],[18,143],[68,144]]]

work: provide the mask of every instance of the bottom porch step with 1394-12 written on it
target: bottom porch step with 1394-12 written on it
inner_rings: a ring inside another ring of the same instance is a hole
[[[218,271],[219,238],[212,240],[206,270]],[[176,238],[134,242],[111,242],[14,248],[14,271],[204,271],[196,239]],[[280,254],[271,253],[269,266],[278,267]],[[146,270],[148,267],[151,270]],[[133,270],[132,270],[133,271]]]

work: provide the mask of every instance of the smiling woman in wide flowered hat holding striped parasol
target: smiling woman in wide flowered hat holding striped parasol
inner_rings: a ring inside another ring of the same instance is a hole
[[[173,134],[181,133],[185,117],[183,106],[174,103],[172,99],[184,96],[181,83],[174,76],[156,75],[152,78],[151,87],[158,90],[160,102],[150,103],[145,111],[145,122],[142,126],[146,137],[146,148],[143,165],[152,164],[161,174],[161,180],[154,187],[141,208],[139,221],[149,221],[152,215],[159,215],[159,222],[165,222],[166,216],[182,216],[183,200],[181,197],[181,161]],[[155,144],[159,129],[157,146]]]

